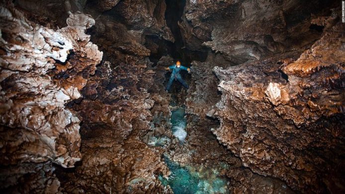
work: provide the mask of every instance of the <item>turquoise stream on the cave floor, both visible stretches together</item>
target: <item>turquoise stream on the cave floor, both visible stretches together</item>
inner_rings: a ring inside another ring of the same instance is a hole
[[[172,111],[170,120],[173,135],[178,138],[180,144],[183,144],[187,136],[187,121],[184,116],[185,108],[181,106]],[[227,194],[229,191],[228,181],[220,177],[215,168],[194,167],[192,164],[182,167],[170,160],[167,155],[164,156],[164,160],[171,175],[168,179],[162,176],[159,179],[163,185],[169,185],[174,194]],[[222,168],[227,168],[227,165],[224,164]]]

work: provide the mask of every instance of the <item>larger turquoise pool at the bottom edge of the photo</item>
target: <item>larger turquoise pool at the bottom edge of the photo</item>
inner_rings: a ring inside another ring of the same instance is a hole
[[[214,169],[195,171],[192,167],[181,167],[165,157],[171,171],[169,179],[159,177],[163,185],[169,185],[174,194],[228,194],[227,181],[218,177]]]

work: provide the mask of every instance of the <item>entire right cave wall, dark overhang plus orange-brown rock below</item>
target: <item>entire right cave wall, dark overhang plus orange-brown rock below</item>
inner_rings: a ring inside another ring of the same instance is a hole
[[[322,1],[190,0],[180,23],[187,47],[218,56],[192,63],[188,113],[218,118],[213,133],[244,166],[295,191],[344,191],[339,14]]]

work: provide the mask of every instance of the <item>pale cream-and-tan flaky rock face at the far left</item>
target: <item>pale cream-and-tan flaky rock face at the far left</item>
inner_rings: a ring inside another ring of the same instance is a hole
[[[68,26],[54,31],[28,21],[10,4],[1,4],[0,9],[0,163],[19,163],[16,168],[21,173],[29,169],[26,162],[74,167],[81,159],[80,120],[65,103],[81,97],[87,80],[78,71],[87,69],[85,77],[93,74],[102,58],[84,33],[94,20],[71,14]],[[74,56],[66,62],[72,52]],[[75,76],[56,79],[51,74],[54,67],[59,73],[74,68]],[[13,184],[7,181],[1,187]]]

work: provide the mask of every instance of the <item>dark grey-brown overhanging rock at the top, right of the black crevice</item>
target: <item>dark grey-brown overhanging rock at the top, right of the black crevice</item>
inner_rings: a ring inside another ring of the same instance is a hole
[[[187,48],[201,50],[204,45],[222,53],[228,61],[242,64],[317,39],[321,33],[310,29],[306,20],[311,15],[304,10],[318,14],[330,4],[320,0],[188,0],[179,25]]]

